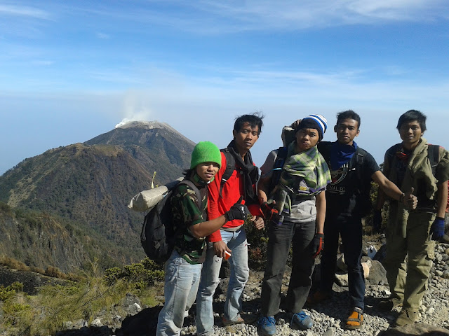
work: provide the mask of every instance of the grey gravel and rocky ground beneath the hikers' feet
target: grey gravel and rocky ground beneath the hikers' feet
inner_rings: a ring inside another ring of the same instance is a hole
[[[384,312],[377,309],[377,303],[389,295],[382,264],[377,260],[371,260],[368,256],[364,257],[363,261],[369,268],[369,276],[366,279],[365,323],[363,323],[362,328],[344,330],[344,322],[352,307],[349,307],[347,276],[344,274],[344,265],[341,262],[340,265],[343,269],[337,272],[337,280],[333,288],[335,295],[332,299],[305,309],[312,316],[314,327],[307,331],[291,329],[290,318],[281,309],[276,316],[276,335],[449,335],[449,244],[438,244],[436,248],[436,260],[432,268],[429,289],[424,295],[417,323],[401,328],[390,327],[390,323],[395,320],[398,311]],[[316,269],[319,269],[319,267],[316,267]],[[263,272],[251,272],[244,291],[243,308],[248,318],[255,319],[259,313],[262,276]],[[315,276],[318,276],[318,274],[315,274]],[[283,293],[286,293],[289,279],[288,272],[286,272]],[[224,276],[222,283],[217,288],[214,303],[215,335],[257,335],[255,323],[227,327],[222,325],[220,314],[223,309],[225,299],[223,293],[226,285],[227,279]],[[86,321],[67,322],[67,330],[59,332],[58,335],[154,335],[154,328],[161,307],[143,307],[142,309],[138,297],[128,295],[123,300],[123,307],[121,308],[127,311],[128,316],[98,316],[90,326],[87,325]],[[185,318],[185,328],[183,328],[181,335],[196,335],[194,311],[195,307],[192,307],[189,316]]]

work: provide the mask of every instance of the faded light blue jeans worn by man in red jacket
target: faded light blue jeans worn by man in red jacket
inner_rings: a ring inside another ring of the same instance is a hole
[[[248,281],[248,244],[243,227],[236,232],[220,230],[222,241],[231,249],[231,257],[228,259],[231,266],[231,276],[227,287],[225,302],[225,317],[230,321],[236,321],[242,310],[241,296],[246,281]],[[201,282],[199,284],[198,297],[196,298],[196,332],[198,335],[211,335],[213,333],[213,294],[220,283],[220,268],[222,258],[215,255],[212,244],[208,244],[206,261],[203,263]]]

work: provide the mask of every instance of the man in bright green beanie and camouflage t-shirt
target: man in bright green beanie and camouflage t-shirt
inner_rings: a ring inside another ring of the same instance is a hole
[[[185,312],[195,301],[206,255],[205,237],[234,219],[249,214],[246,205],[234,204],[224,215],[206,221],[207,185],[221,165],[220,150],[209,141],[199,142],[192,153],[185,179],[199,190],[201,200],[191,186],[180,184],[170,198],[175,229],[175,247],[165,265],[165,304],[159,313],[156,335],[180,335]],[[201,205],[199,205],[201,204]]]

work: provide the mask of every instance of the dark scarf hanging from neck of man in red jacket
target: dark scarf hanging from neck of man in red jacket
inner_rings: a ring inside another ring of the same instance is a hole
[[[253,164],[253,158],[250,151],[245,155],[245,161],[241,159],[239,151],[237,151],[235,141],[232,140],[229,145],[227,145],[229,153],[234,157],[236,161],[236,169],[243,174],[243,186],[245,187],[244,200],[246,204],[257,203],[253,184],[259,179],[259,171],[257,167]]]

